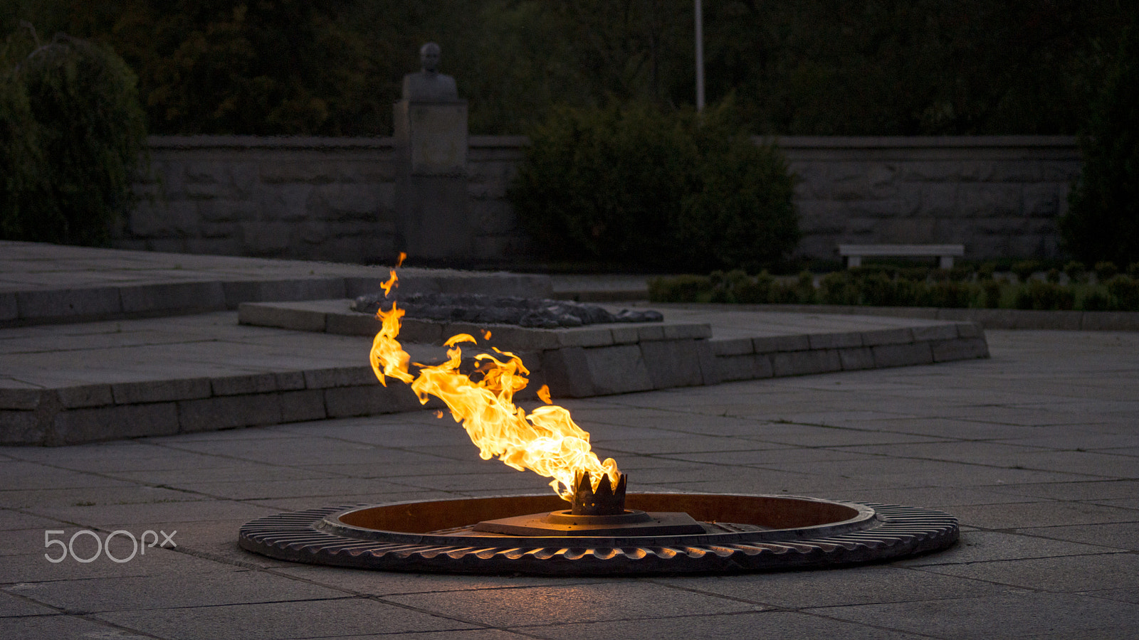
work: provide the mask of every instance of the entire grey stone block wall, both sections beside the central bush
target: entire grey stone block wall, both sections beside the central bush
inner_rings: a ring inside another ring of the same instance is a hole
[[[1079,172],[1067,137],[779,140],[800,175],[801,255],[839,243],[959,243],[966,257],[1051,256]],[[472,261],[525,253],[505,200],[526,139],[472,136]],[[151,137],[121,248],[372,263],[394,255],[391,138]]]

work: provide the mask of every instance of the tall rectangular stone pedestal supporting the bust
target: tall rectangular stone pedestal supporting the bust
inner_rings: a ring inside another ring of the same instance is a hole
[[[466,100],[400,100],[394,109],[396,248],[412,260],[470,257]]]

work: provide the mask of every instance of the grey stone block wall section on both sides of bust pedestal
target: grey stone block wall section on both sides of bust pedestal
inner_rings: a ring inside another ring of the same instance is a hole
[[[394,256],[392,138],[158,137],[151,175],[115,246],[175,253],[374,263]],[[474,260],[508,257],[524,236],[505,200],[525,138],[470,137]]]

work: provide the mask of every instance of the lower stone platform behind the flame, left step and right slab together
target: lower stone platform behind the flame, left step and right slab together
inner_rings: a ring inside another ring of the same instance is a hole
[[[259,303],[243,305],[244,325],[229,311],[2,329],[0,444],[74,444],[419,409],[405,385],[377,383],[368,364],[375,319],[346,309],[346,300]],[[336,320],[350,313],[363,320]],[[665,313],[664,323],[491,326],[490,339],[483,327],[409,321],[405,337],[417,339],[404,348],[413,362],[437,361],[444,350],[421,343],[469,333],[483,347],[516,351],[531,371],[519,400],[534,399],[543,384],[557,397],[587,397],[988,355],[972,323],[899,326],[890,319],[893,326],[883,326],[855,317],[835,330],[834,321],[788,314],[769,314],[765,325],[718,326],[698,321],[706,317],[699,313]],[[259,314],[292,329],[248,323]],[[337,326],[358,335],[325,330]],[[297,330],[304,328],[310,330]],[[713,331],[727,337],[712,338]]]

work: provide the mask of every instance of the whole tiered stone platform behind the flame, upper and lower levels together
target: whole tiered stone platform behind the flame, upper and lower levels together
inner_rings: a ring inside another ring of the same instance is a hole
[[[0,445],[417,409],[405,387],[376,384],[367,364],[375,319],[346,310],[346,297],[376,293],[387,277],[383,266],[0,241]],[[546,276],[407,269],[400,277],[401,290],[412,292],[552,292]],[[490,345],[523,358],[533,376],[522,395],[531,397],[542,384],[555,396],[585,397],[988,353],[967,322],[682,306],[665,313],[664,323],[639,326],[494,327]],[[482,334],[408,321],[401,340],[427,362],[442,356],[429,343],[440,344],[444,329]],[[353,333],[368,337],[337,335]]]

